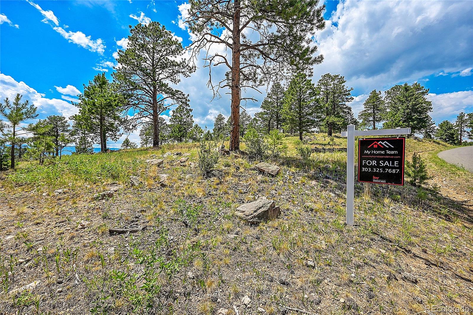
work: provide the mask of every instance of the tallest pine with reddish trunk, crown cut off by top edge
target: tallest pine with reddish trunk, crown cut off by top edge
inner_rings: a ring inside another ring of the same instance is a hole
[[[189,2],[185,23],[195,35],[189,46],[193,56],[204,49],[209,70],[217,65],[228,67],[227,78],[215,83],[210,77],[209,87],[216,96],[219,88],[231,90],[231,151],[240,149],[243,88],[256,88],[281,74],[296,73],[322,62],[323,56],[316,53],[312,36],[325,26],[324,9],[318,0]],[[213,43],[231,51],[231,60],[226,53],[209,53],[208,46]]]

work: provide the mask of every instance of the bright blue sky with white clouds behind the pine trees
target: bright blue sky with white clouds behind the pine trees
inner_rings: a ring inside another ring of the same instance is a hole
[[[164,24],[184,46],[185,1],[0,0],[0,98],[22,93],[40,117],[74,114],[70,100],[99,71],[110,78],[114,53],[123,48],[129,25]],[[353,87],[355,114],[373,89],[420,82],[430,89],[436,122],[473,111],[472,1],[326,1],[327,26],[315,36],[324,62],[314,80],[340,73]],[[181,23],[180,23],[181,21]],[[211,100],[207,70],[178,85],[190,94],[194,119],[213,126],[229,114],[228,97]],[[220,72],[219,72],[220,71]],[[224,74],[225,69],[215,75]],[[247,111],[259,111],[259,102]],[[138,140],[138,131],[130,136]],[[111,146],[119,146],[125,136]]]

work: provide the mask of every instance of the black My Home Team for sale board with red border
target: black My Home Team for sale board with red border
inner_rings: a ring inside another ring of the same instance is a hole
[[[358,181],[374,184],[404,184],[406,138],[358,140]]]

